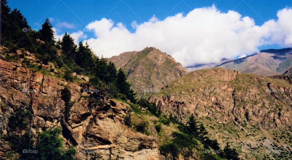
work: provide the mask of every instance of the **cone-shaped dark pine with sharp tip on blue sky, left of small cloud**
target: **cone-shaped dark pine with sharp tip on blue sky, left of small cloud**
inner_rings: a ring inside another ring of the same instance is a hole
[[[52,28],[53,26],[51,25],[50,20],[46,19],[46,21],[42,24],[42,29],[40,30],[40,39],[50,44],[50,46],[55,43],[54,31]]]

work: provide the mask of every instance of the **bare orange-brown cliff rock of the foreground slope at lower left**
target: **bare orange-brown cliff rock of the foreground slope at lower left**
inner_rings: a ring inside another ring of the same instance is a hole
[[[13,70],[15,66],[20,65],[0,60],[1,104],[12,112],[29,109],[33,114],[30,127],[34,135],[43,129],[62,127],[64,144],[75,146],[77,159],[158,159],[157,137],[124,125],[127,104],[114,99],[92,103],[81,97],[82,87],[77,83],[56,80],[21,67]],[[71,91],[71,102],[75,102],[67,115],[61,98],[65,85]],[[7,122],[9,112],[0,109],[0,128],[7,134],[3,114]],[[9,151],[7,142],[1,138],[0,141],[0,152]]]

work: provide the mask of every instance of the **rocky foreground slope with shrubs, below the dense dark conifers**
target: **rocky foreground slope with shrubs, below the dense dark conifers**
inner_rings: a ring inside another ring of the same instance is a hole
[[[0,51],[0,159],[36,159],[24,151],[51,153],[46,144],[56,138],[64,147],[54,144],[54,151],[74,149],[68,156],[77,160],[224,159],[147,101],[140,105],[103,95],[81,75],[66,80],[63,67],[44,65],[28,51]],[[56,128],[60,133],[52,135]]]

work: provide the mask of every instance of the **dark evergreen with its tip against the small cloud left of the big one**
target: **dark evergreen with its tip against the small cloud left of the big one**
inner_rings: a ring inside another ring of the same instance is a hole
[[[66,62],[74,62],[77,45],[74,44],[74,39],[66,32],[62,38],[61,51],[66,59]]]

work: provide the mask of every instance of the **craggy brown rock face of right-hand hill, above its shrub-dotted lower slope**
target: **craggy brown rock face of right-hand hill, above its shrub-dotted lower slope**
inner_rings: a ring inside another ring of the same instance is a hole
[[[180,119],[195,114],[222,123],[247,121],[265,129],[292,126],[292,86],[276,77],[212,68],[191,72],[170,83],[162,93],[150,100],[162,112],[170,109]]]

